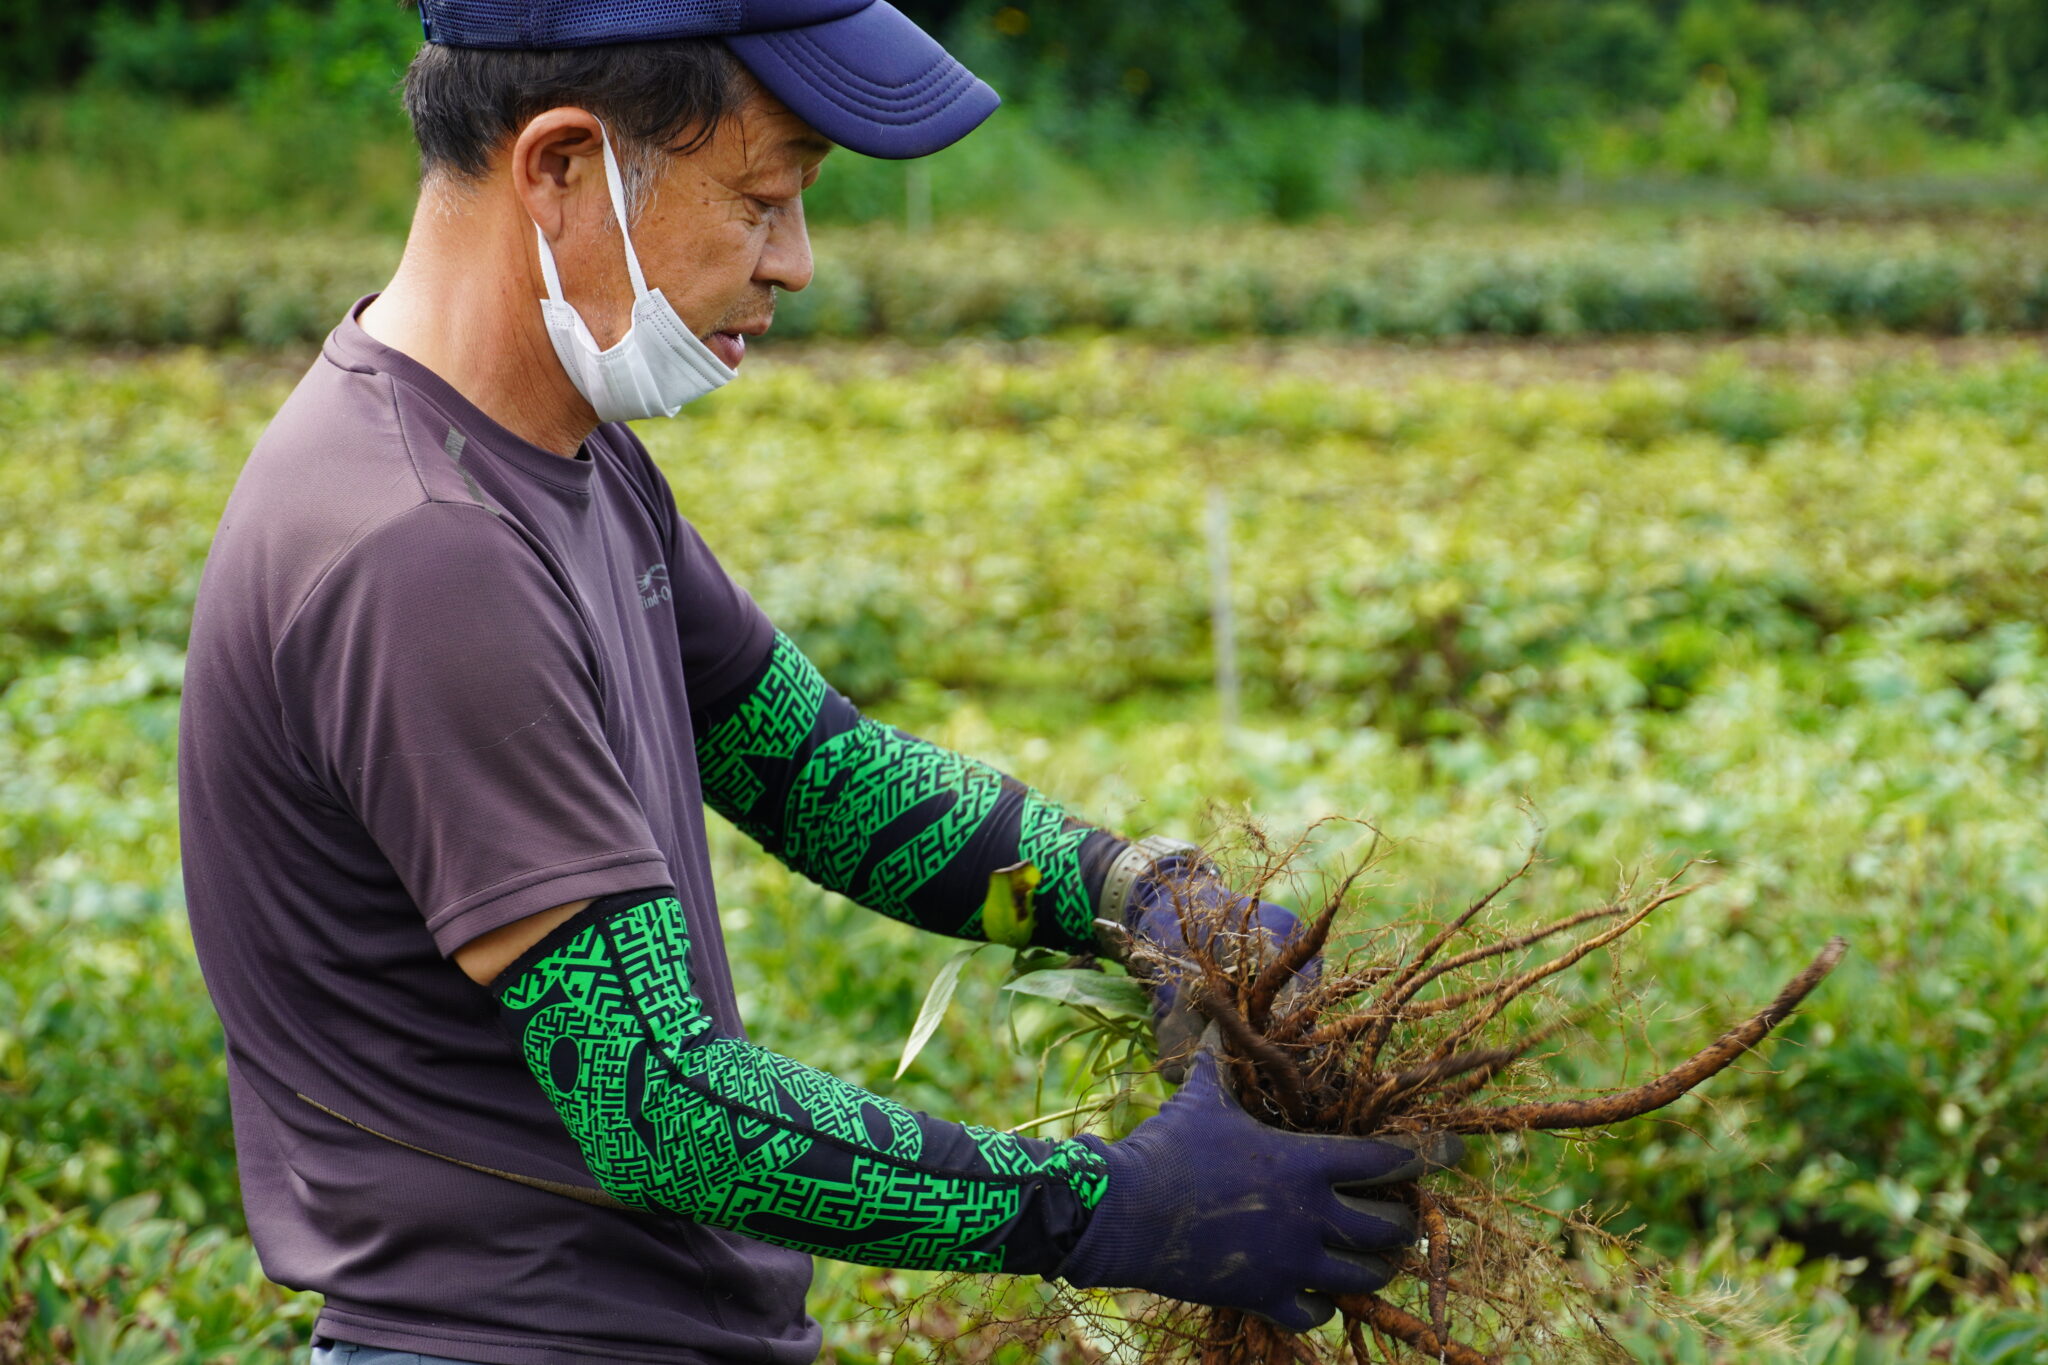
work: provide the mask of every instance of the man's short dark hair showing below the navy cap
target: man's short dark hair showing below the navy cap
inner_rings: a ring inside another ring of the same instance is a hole
[[[559,104],[602,119],[633,162],[643,149],[688,153],[705,145],[748,92],[748,70],[717,39],[553,51],[424,43],[406,70],[420,174],[459,180],[481,178],[500,143]]]

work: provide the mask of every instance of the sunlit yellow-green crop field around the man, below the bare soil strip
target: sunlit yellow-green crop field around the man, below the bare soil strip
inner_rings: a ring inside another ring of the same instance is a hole
[[[205,548],[307,360],[0,354],[0,1361],[270,1361],[311,1324],[242,1232],[172,788]],[[1483,1160],[1798,1332],[1731,1355],[1616,1293],[1642,1359],[2048,1353],[2038,344],[768,344],[641,432],[872,714],[1126,831],[1370,817],[1386,915],[1499,876],[1524,806],[1530,913],[1710,855],[1628,958],[1640,1017],[1595,1019],[1563,1083],[1649,1074],[1845,935],[1671,1121]],[[995,954],[891,1081],[956,945],[713,835],[758,1042],[948,1117],[1071,1103],[1079,1058],[1012,1050]],[[827,1359],[950,1330],[862,1316],[928,1277],[819,1271]]]

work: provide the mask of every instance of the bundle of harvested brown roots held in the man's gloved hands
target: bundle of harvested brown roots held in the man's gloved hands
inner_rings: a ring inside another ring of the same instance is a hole
[[[1311,827],[1313,833],[1313,827]],[[1176,886],[1190,960],[1169,964],[1157,950],[1130,943],[1135,974],[1174,970],[1190,1001],[1221,1036],[1219,1060],[1229,1068],[1239,1103],[1255,1117],[1292,1132],[1495,1136],[1585,1132],[1653,1113],[1702,1081],[1729,1068],[1782,1023],[1841,960],[1845,943],[1831,939],[1759,1011],[1726,1027],[1712,1044],[1651,1081],[1579,1097],[1554,1095],[1536,1052],[1565,1036],[1593,1009],[1626,1009],[1622,976],[1610,995],[1567,1009],[1556,995],[1563,974],[1616,943],[1659,909],[1692,894],[1694,864],[1638,888],[1624,884],[1602,905],[1556,915],[1534,927],[1503,927],[1503,896],[1530,876],[1536,851],[1456,915],[1421,923],[1372,925],[1362,909],[1362,878],[1376,866],[1366,853],[1311,900],[1313,917],[1278,956],[1245,952],[1260,943],[1251,902],[1288,896],[1276,882],[1292,876],[1309,833],[1274,845],[1257,829],[1247,849],[1225,868],[1235,890],[1251,900],[1237,923],[1202,923],[1198,907],[1214,902]],[[1346,913],[1358,923],[1341,923]],[[1225,913],[1231,915],[1231,913]],[[1380,911],[1378,915],[1384,915]],[[1337,952],[1339,929],[1356,937]],[[1327,950],[1327,952],[1325,952]],[[1319,980],[1296,978],[1309,958],[1323,956]],[[1548,1017],[1544,1019],[1544,1011]],[[1481,1150],[1495,1144],[1479,1144]],[[1477,1162],[1466,1162],[1477,1164]],[[1104,1316],[1067,1297],[1069,1328],[1083,1328],[1098,1347],[1116,1345],[1120,1359],[1190,1361],[1200,1365],[1323,1365],[1325,1361],[1448,1361],[1491,1365],[1503,1359],[1630,1359],[1608,1336],[1589,1289],[1559,1250],[1559,1234],[1593,1238],[1630,1263],[1626,1238],[1595,1220],[1556,1216],[1522,1197],[1503,1179],[1448,1171],[1376,1191],[1399,1197],[1415,1214],[1421,1240],[1399,1263],[1403,1275],[1380,1293],[1339,1297],[1341,1332],[1292,1334],[1235,1310],[1149,1300],[1102,1338]],[[1640,1293],[1657,1291],[1642,1277]],[[1659,1312],[1692,1316],[1683,1304]],[[1028,1322],[1010,1318],[1010,1336],[1032,1336]],[[1040,1322],[1038,1326],[1049,1326]],[[1335,1342],[1331,1340],[1335,1338]],[[1337,1345],[1341,1342],[1341,1345]],[[1090,1351],[1087,1359],[1098,1359]]]

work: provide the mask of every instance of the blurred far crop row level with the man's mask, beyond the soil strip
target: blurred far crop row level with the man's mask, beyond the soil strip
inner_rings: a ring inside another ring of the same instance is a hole
[[[362,235],[180,233],[0,248],[0,342],[317,340],[397,264]],[[782,295],[776,338],[1065,329],[1581,338],[1653,332],[1966,336],[2048,327],[2048,219],[1640,229],[848,229]],[[4,591],[4,589],[0,589]]]

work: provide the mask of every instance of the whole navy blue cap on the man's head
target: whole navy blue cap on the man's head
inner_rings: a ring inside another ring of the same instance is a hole
[[[717,37],[813,129],[903,160],[967,137],[1001,98],[889,0],[420,0],[428,43],[596,47]]]

